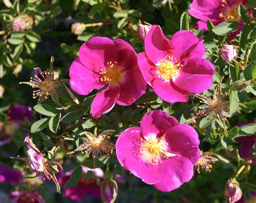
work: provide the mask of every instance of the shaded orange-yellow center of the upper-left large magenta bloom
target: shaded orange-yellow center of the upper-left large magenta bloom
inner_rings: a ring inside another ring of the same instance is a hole
[[[119,67],[117,62],[107,62],[104,69],[100,69],[101,82],[111,82],[112,84],[119,83],[124,67]]]

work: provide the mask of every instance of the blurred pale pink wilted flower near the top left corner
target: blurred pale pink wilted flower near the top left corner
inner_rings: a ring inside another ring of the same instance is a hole
[[[14,18],[12,23],[12,29],[19,30],[29,30],[33,25],[33,18],[28,14],[23,14]]]

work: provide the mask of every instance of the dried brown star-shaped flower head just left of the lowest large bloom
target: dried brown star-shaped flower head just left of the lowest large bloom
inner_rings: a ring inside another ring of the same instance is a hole
[[[69,152],[68,154],[72,154],[75,152],[81,151],[82,153],[85,153],[87,157],[92,152],[92,157],[103,157],[104,155],[107,157],[109,156],[112,149],[114,149],[114,145],[108,141],[107,139],[110,139],[110,133],[114,132],[114,130],[106,130],[100,133],[98,136],[96,136],[90,132],[82,132],[80,135],[85,134],[87,138],[84,139],[84,143],[82,145],[79,145],[76,150]]]

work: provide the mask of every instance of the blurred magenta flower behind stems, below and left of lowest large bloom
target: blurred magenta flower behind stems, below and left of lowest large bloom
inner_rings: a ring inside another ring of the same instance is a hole
[[[100,199],[100,187],[96,184],[95,178],[91,178],[89,180],[85,180],[85,174],[88,171],[92,171],[96,177],[103,178],[103,171],[101,168],[87,168],[85,166],[82,166],[83,174],[78,182],[77,186],[75,187],[68,187],[64,189],[64,195],[65,197],[69,197],[73,201],[80,201],[85,198],[87,194],[91,195],[92,197]],[[65,185],[66,182],[68,182],[70,175],[70,172],[66,172],[63,177],[59,178],[59,184]]]

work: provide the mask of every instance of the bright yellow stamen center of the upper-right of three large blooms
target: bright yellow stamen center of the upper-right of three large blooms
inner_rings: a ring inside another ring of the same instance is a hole
[[[179,71],[183,65],[180,65],[177,58],[167,55],[164,59],[160,59],[158,66],[157,75],[165,80],[169,81],[171,78],[176,78],[179,75]]]

